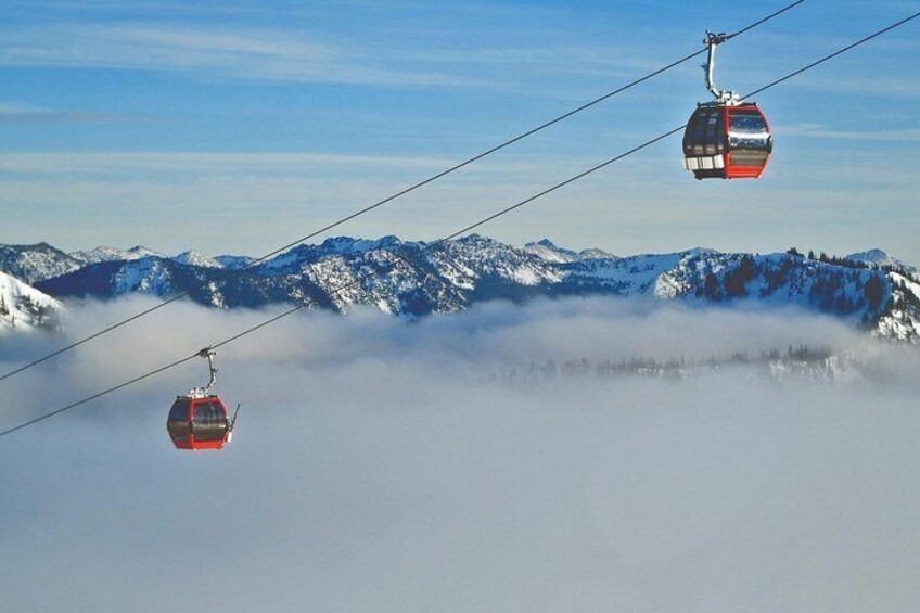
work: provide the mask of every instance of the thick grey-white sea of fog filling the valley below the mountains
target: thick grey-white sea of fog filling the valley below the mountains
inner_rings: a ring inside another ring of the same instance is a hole
[[[0,371],[66,336],[0,339]],[[0,382],[0,429],[274,311],[188,304]],[[825,347],[864,367],[496,373]],[[217,356],[230,446],[173,448],[193,360],[0,438],[11,612],[916,611],[918,352],[795,311],[568,299],[298,314]]]

